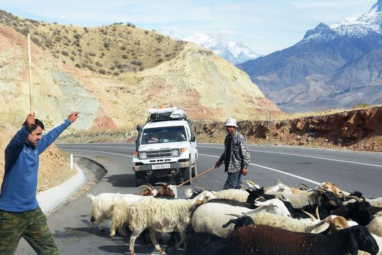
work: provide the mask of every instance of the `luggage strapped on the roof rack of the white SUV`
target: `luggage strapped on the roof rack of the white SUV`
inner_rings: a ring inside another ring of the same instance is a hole
[[[176,106],[155,106],[149,109],[147,122],[162,122],[166,120],[188,120],[184,110]]]

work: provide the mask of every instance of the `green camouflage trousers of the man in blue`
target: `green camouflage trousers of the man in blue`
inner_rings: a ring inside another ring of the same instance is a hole
[[[24,213],[0,210],[0,254],[14,254],[22,237],[39,255],[58,254],[47,216],[40,207]]]

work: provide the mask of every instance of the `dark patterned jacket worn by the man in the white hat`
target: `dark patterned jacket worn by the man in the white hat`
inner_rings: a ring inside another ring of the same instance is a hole
[[[244,138],[244,135],[235,132],[233,135],[232,144],[231,144],[231,155],[226,155],[226,143],[229,140],[229,135],[226,136],[224,140],[224,152],[219,158],[220,163],[224,163],[226,156],[230,157],[228,172],[239,172],[242,168],[248,169],[249,165],[249,150],[247,141]]]

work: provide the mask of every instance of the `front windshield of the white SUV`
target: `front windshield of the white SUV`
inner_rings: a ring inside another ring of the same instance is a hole
[[[144,129],[142,133],[142,145],[162,142],[185,141],[184,126],[164,126],[153,129]]]

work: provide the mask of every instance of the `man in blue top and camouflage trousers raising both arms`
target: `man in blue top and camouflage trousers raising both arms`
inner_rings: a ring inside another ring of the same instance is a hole
[[[22,237],[38,254],[58,254],[47,217],[36,199],[39,155],[78,116],[79,113],[72,113],[63,124],[42,135],[44,124],[35,118],[35,113],[30,113],[6,147],[0,192],[1,255],[14,254]]]

